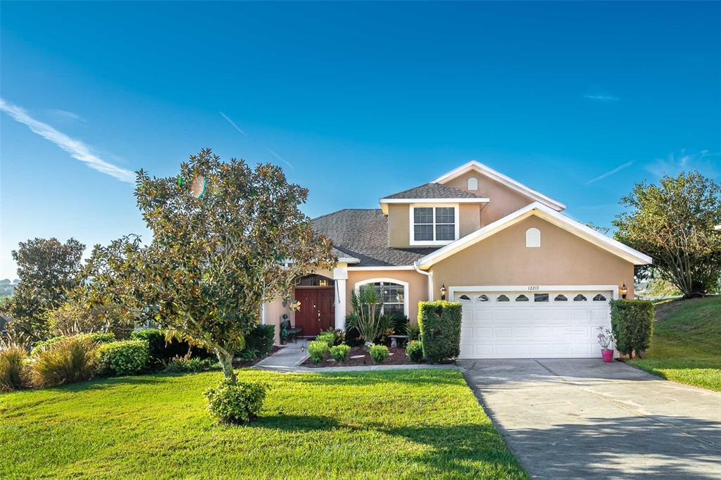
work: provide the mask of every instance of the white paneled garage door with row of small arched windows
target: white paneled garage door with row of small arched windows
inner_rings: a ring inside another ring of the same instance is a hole
[[[611,291],[455,292],[463,305],[461,358],[600,357]]]

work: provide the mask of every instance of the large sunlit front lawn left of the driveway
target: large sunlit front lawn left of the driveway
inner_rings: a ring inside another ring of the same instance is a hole
[[[0,478],[526,478],[460,373],[280,374],[262,418],[211,423],[219,373],[0,394]]]

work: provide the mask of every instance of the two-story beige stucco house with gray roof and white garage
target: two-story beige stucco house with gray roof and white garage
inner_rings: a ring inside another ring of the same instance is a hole
[[[411,321],[419,301],[463,303],[463,358],[596,357],[609,300],[632,298],[634,265],[651,262],[477,161],[379,203],[314,219],[337,267],[298,279],[298,311],[265,305],[266,323],[343,328],[350,292],[370,283]]]

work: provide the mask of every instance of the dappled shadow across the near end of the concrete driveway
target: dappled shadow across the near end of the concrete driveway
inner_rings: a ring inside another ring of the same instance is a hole
[[[718,479],[721,423],[690,417],[589,418],[508,432],[530,474],[549,478]]]

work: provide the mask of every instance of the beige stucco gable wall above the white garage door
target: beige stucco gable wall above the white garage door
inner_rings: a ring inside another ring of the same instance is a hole
[[[526,248],[526,230],[541,231],[541,247]],[[441,285],[622,285],[633,297],[634,266],[536,216],[433,265]]]

